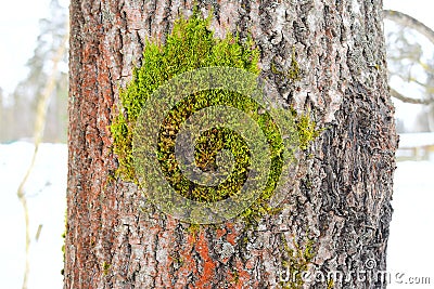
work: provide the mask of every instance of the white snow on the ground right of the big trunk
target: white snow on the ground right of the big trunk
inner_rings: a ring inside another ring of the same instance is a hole
[[[394,214],[387,249],[392,283],[388,288],[434,288],[433,161],[398,162],[392,206]],[[417,277],[430,277],[431,285],[410,285]]]

